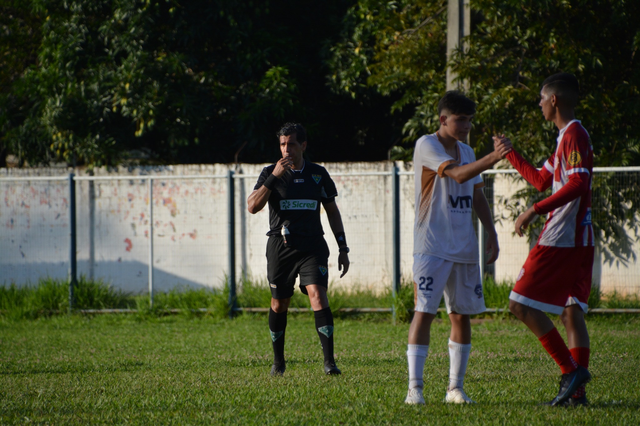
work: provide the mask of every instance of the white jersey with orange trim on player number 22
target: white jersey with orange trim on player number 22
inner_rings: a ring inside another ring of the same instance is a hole
[[[443,173],[449,164],[474,161],[474,150],[463,142],[458,142],[458,160],[451,158],[436,133],[415,142],[413,254],[429,254],[460,263],[479,261],[471,213],[474,190],[484,186],[483,179],[478,175],[458,183]]]

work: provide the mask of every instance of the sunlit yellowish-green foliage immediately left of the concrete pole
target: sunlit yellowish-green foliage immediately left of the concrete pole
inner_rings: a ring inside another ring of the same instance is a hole
[[[344,20],[332,48],[330,83],[356,98],[367,88],[397,95],[390,112],[409,110],[404,141],[438,123],[433,110],[445,89],[447,1],[362,0]]]

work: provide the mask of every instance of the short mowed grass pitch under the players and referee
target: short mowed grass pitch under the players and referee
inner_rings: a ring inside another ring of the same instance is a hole
[[[285,377],[270,377],[266,316],[0,318],[0,424],[640,423],[638,317],[589,317],[591,405],[575,409],[536,405],[555,395],[559,371],[508,317],[473,325],[465,389],[475,406],[442,403],[446,319],[433,326],[422,407],[403,404],[408,324],[335,325],[342,376],[322,374],[312,316],[298,314]]]

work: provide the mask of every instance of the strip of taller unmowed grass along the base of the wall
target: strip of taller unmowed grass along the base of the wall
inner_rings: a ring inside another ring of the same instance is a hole
[[[512,283],[496,283],[491,277],[484,280],[484,300],[488,308],[506,308],[509,305],[509,293]],[[396,307],[397,319],[407,322],[410,310],[413,309],[413,282],[403,280],[399,293],[392,296],[388,287],[376,294],[366,287],[334,288],[330,285],[328,292],[332,309],[339,308],[390,308]],[[80,277],[75,293],[75,308],[136,308],[142,316],[158,316],[166,314],[166,310],[179,308],[185,316],[200,315],[192,312],[198,308],[207,308],[216,317],[228,316],[228,288],[193,289],[176,287],[166,293],[154,294],[154,308],[149,308],[147,294],[125,293],[100,280],[88,280]],[[237,285],[237,305],[239,307],[269,307],[271,291],[266,281],[244,280]],[[590,307],[607,308],[640,308],[637,295],[622,296],[618,293],[600,294],[595,288],[589,296]],[[295,291],[291,307],[310,307],[308,297]],[[444,307],[444,299],[440,303]],[[46,278],[35,285],[17,286],[0,285],[0,316],[13,319],[36,318],[68,310],[68,283],[64,280]],[[354,314],[339,314],[342,317]],[[363,316],[362,314],[357,314]],[[364,315],[364,317],[383,316],[384,314]],[[387,315],[388,317],[388,315]]]

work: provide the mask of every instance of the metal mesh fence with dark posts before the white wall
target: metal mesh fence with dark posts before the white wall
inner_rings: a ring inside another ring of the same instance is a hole
[[[413,171],[409,165],[398,166],[325,164],[338,188],[336,201],[351,248],[351,268],[339,279],[337,245],[323,211],[332,285],[380,292],[397,284],[401,275],[410,278]],[[264,281],[268,209],[255,215],[246,210],[246,197],[262,167],[216,165],[207,174],[185,174],[177,166],[163,173],[140,168],[128,174],[83,174],[73,178],[75,208],[68,176],[6,172],[0,176],[0,285],[66,278],[74,256],[77,269],[72,273],[125,291],[220,287],[226,277],[242,275]],[[483,178],[500,219],[501,247],[498,261],[483,265],[483,271],[497,281],[513,281],[530,243],[514,236],[512,211],[499,201],[513,201],[513,194],[526,185],[513,171],[487,171]],[[594,282],[605,292],[640,293],[638,218],[632,209],[640,196],[639,181],[640,167],[594,169],[593,221],[606,231],[596,254]],[[72,212],[75,229],[70,227]],[[70,253],[72,238],[75,253]]]

